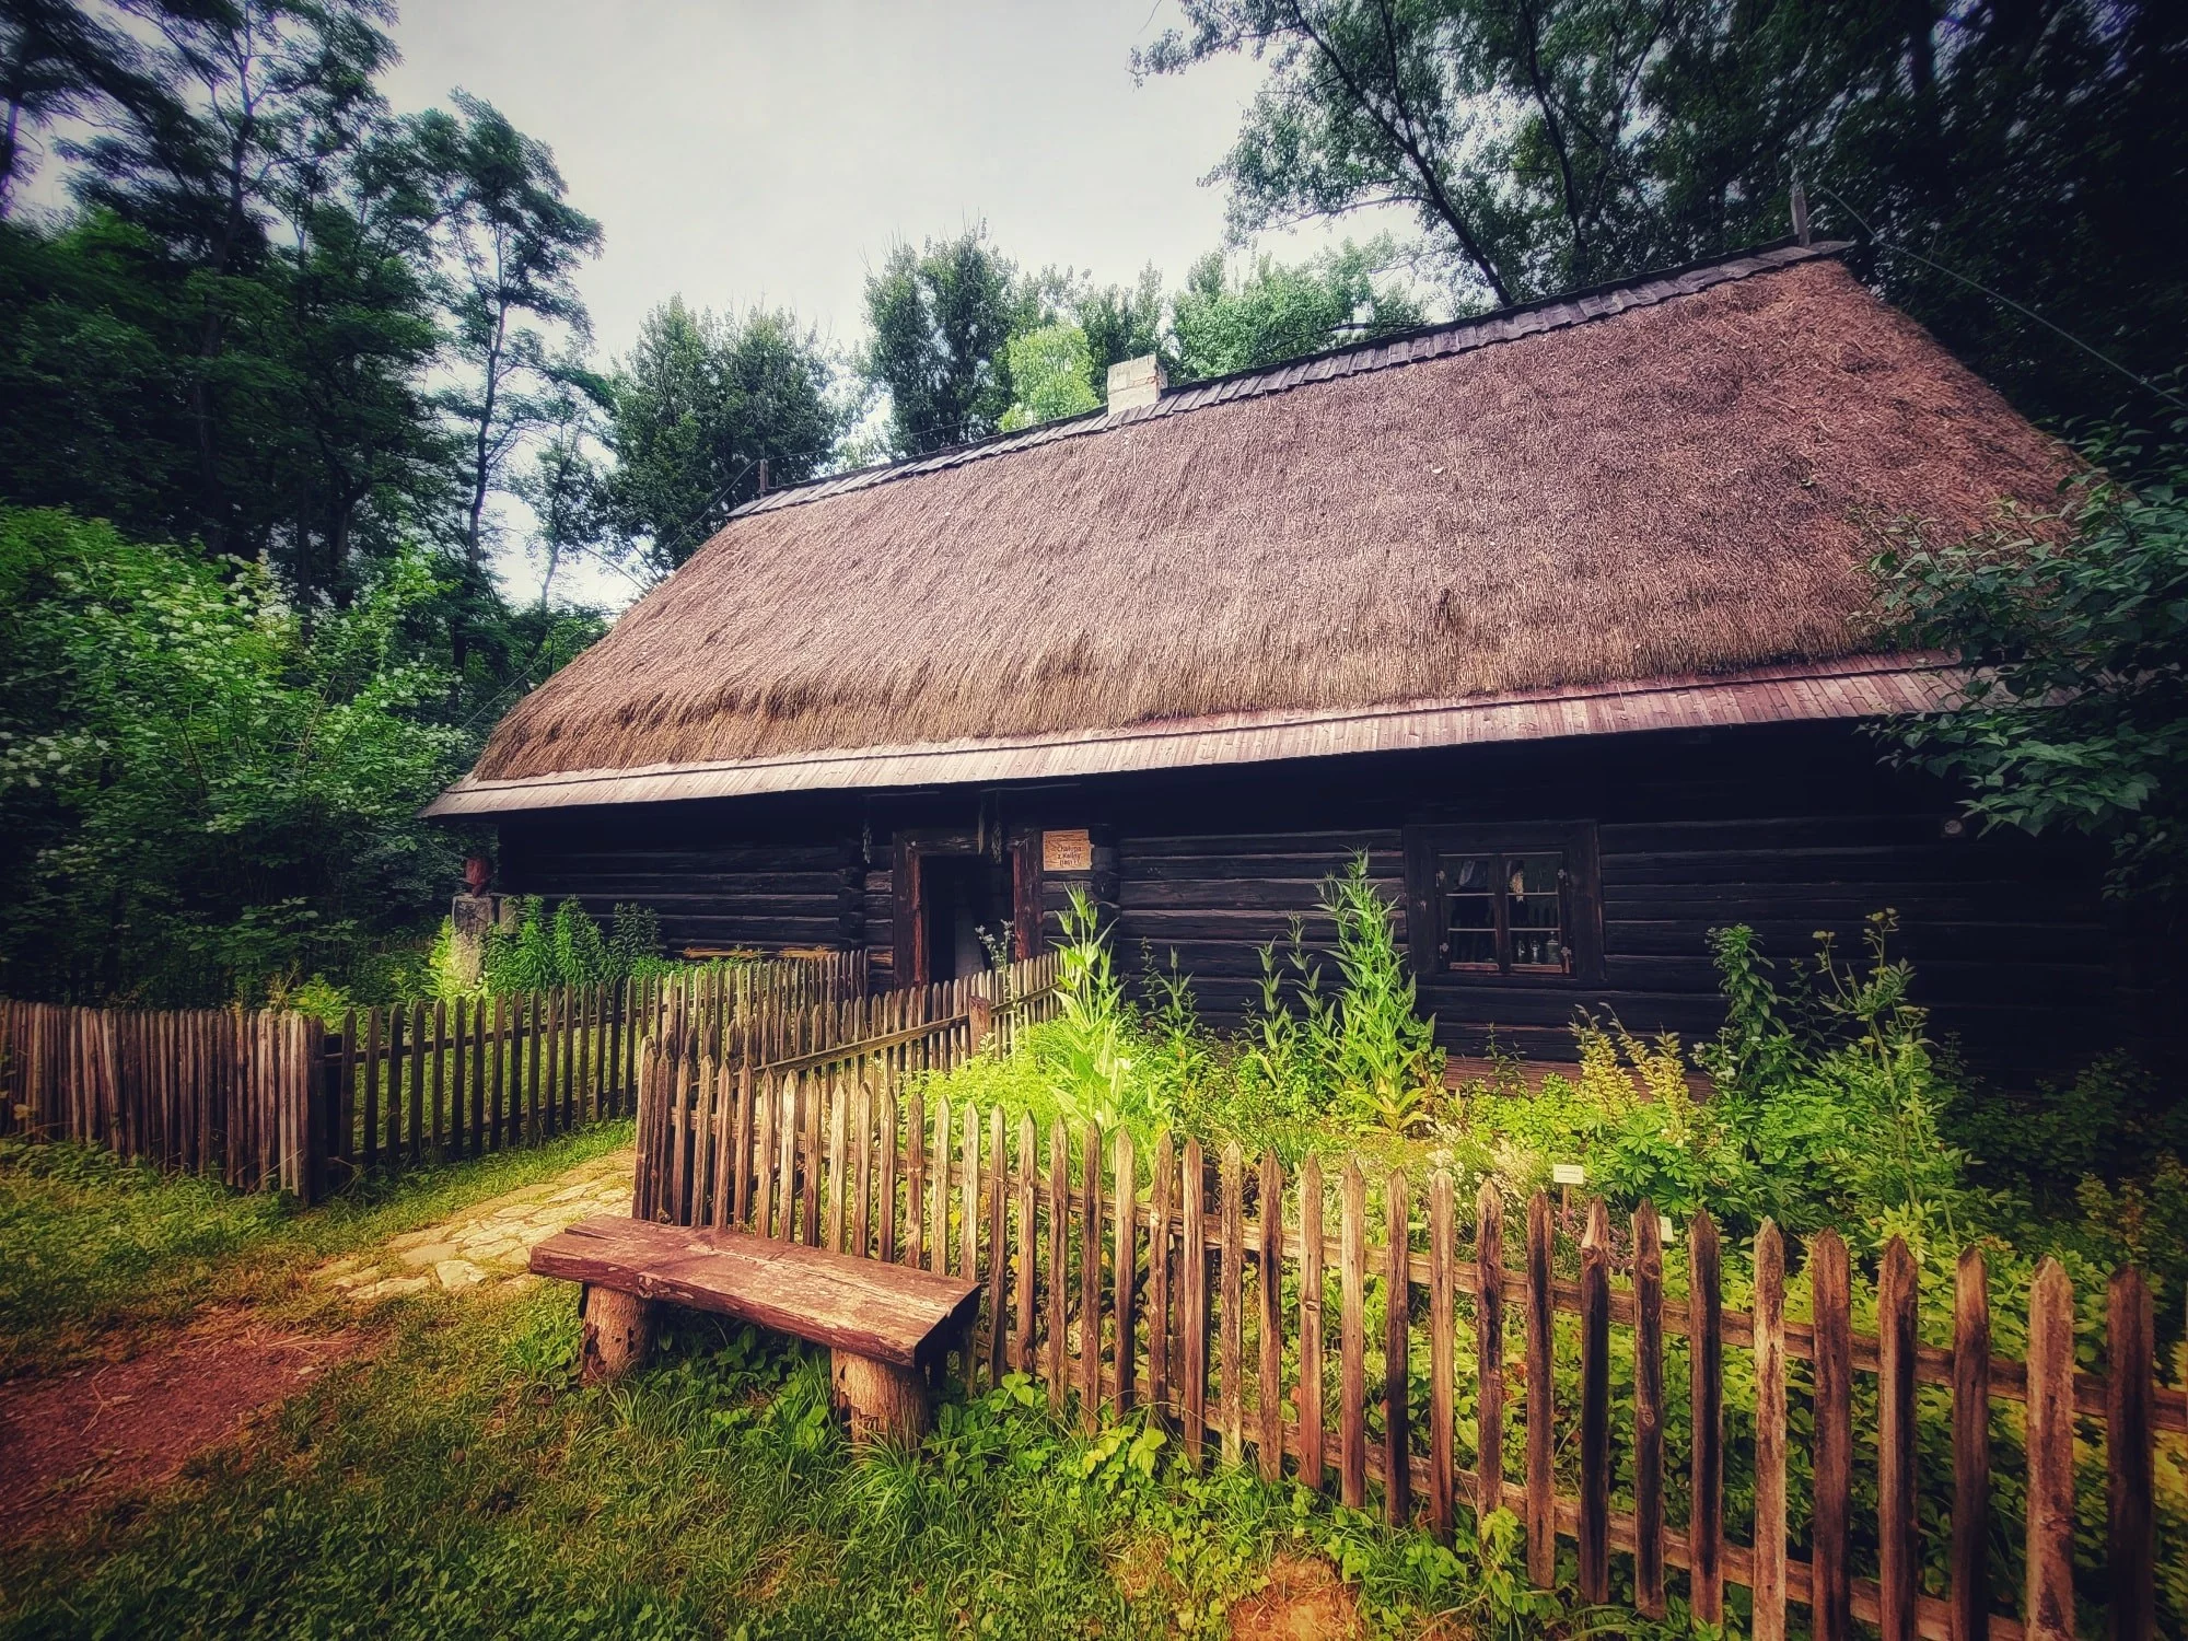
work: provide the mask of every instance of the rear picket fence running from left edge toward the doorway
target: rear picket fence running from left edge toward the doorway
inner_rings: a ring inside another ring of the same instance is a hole
[[[639,1039],[670,1013],[711,1022],[711,1041],[744,1057],[821,1041],[864,1004],[864,952],[363,1009],[341,1031],[278,1011],[0,1000],[0,1133],[90,1140],[315,1201],[365,1171],[628,1114]]]

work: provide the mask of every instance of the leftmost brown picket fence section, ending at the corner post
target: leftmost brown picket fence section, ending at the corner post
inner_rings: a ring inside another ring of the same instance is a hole
[[[311,1199],[317,1020],[0,1000],[0,1133],[90,1140],[175,1173]]]

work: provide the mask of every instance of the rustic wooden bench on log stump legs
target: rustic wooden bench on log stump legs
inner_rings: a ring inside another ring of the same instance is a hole
[[[827,1346],[853,1442],[926,1433],[928,1372],[963,1346],[980,1304],[961,1276],[643,1219],[578,1221],[534,1245],[532,1269],[584,1284],[586,1383],[645,1361],[659,1304],[713,1311]]]

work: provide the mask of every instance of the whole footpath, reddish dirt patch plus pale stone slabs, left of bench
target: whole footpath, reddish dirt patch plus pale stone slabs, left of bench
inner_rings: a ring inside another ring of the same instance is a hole
[[[492,1293],[527,1284],[532,1243],[591,1214],[630,1212],[630,1151],[595,1157],[335,1260],[311,1280],[359,1308],[429,1289]],[[225,1311],[129,1361],[0,1387],[0,1543],[168,1481],[193,1455],[234,1440],[254,1416],[311,1389],[330,1365],[372,1343],[357,1322],[298,1332]]]

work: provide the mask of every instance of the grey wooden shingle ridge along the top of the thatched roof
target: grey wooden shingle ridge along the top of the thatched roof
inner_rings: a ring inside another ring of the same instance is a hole
[[[1041,422],[1039,427],[1026,427],[1013,433],[993,433],[985,440],[950,444],[941,451],[908,455],[897,462],[880,462],[849,473],[829,473],[818,479],[783,486],[781,490],[755,497],[753,501],[733,508],[729,516],[748,519],[779,508],[799,508],[812,501],[849,494],[853,490],[871,490],[880,484],[912,479],[923,473],[941,473],[967,462],[1015,455],[1020,451],[1055,444],[1057,440],[1112,433],[1157,418],[1188,416],[1197,409],[1230,405],[1241,398],[1265,398],[1269,394],[1291,392],[1293,387],[1332,381],[1337,376],[1352,376],[1368,370],[1394,370],[1400,365],[1427,363],[1429,359],[1448,359],[1451,354],[1470,352],[1473,348],[1523,341],[1547,330],[1567,330],[1597,319],[1613,319],[1621,313],[1630,313],[1632,309],[1648,309],[1659,302],[1698,295],[1700,291],[1726,284],[1729,280],[1746,280],[1757,274],[1774,274],[1801,263],[1842,256],[1847,249],[1851,249],[1851,241],[1816,241],[1814,245],[1777,241],[1700,263],[1634,274],[1630,278],[1610,280],[1582,291],[1564,291],[1560,295],[1545,295],[1532,302],[1514,302],[1501,309],[1490,309],[1488,313],[1466,315],[1464,319],[1442,319],[1435,324],[1411,326],[1407,330],[1392,330],[1368,341],[1350,341],[1341,348],[1326,348],[1324,352],[1284,359],[1273,365],[1254,365],[1223,376],[1203,376],[1199,381],[1182,383],[1166,389],[1153,405],[1140,405],[1122,411],[1085,411],[1083,416],[1066,416],[1055,422]]]

